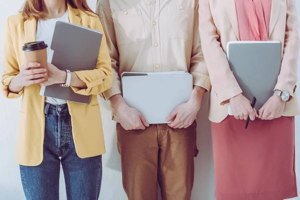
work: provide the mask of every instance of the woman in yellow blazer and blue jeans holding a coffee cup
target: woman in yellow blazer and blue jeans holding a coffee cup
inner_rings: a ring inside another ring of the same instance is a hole
[[[97,199],[105,147],[96,95],[111,87],[110,57],[103,35],[95,69],[69,73],[74,92],[91,95],[88,105],[40,96],[40,85],[65,83],[68,72],[48,63],[46,74],[39,63],[26,63],[22,46],[50,46],[57,20],[104,32],[86,0],[26,0],[6,21],[1,89],[7,98],[22,95],[15,160],[27,199],[58,199],[60,162],[68,198]]]

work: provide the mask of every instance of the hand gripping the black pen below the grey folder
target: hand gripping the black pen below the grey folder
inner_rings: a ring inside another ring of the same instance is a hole
[[[251,102],[241,93],[229,99],[232,114],[236,119],[247,120],[248,116],[251,120],[258,117],[255,108],[252,108]]]

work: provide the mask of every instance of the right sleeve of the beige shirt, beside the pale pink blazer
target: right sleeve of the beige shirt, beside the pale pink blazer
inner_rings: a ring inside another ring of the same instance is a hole
[[[193,85],[203,87],[207,91],[210,91],[211,84],[209,79],[208,70],[206,67],[206,63],[204,60],[201,43],[200,43],[200,35],[199,35],[199,14],[198,14],[198,1],[195,6],[195,14],[194,14],[194,26],[193,26],[193,43],[191,50],[191,59],[190,59],[190,73],[193,77]]]

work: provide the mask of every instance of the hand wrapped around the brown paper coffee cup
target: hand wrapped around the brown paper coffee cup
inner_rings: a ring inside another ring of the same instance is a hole
[[[44,81],[46,69],[38,68],[40,64],[37,62],[27,62],[20,67],[20,72],[15,76],[16,85],[18,87],[29,86]]]

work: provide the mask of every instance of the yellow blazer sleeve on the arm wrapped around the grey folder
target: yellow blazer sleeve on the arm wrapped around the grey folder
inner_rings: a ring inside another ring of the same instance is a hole
[[[103,31],[103,27],[98,17],[95,18],[94,29]],[[74,92],[81,95],[99,94],[111,87],[112,83],[112,70],[110,56],[106,45],[106,37],[103,34],[100,50],[97,58],[95,69],[74,71],[76,75],[86,83],[87,88],[82,89],[71,86]]]

